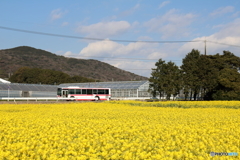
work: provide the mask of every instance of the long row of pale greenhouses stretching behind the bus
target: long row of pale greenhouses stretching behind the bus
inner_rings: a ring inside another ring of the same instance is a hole
[[[13,97],[57,97],[58,87],[78,86],[84,88],[110,88],[112,99],[147,99],[148,81],[112,81],[90,83],[65,83],[60,85],[39,85],[21,83],[0,83],[0,98]]]

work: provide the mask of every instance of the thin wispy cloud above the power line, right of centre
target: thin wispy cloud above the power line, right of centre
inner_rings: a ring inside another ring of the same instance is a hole
[[[196,15],[192,13],[179,14],[176,9],[168,11],[163,16],[152,18],[144,24],[149,32],[162,34],[162,38],[188,36],[188,26],[194,21]]]

